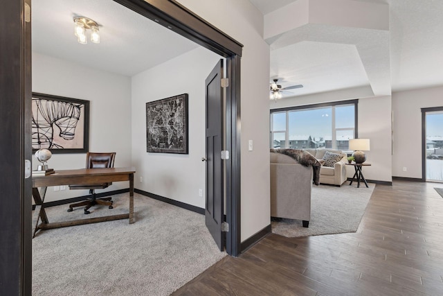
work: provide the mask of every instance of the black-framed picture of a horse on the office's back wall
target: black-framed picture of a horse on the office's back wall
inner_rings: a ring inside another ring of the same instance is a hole
[[[32,146],[51,153],[87,153],[89,101],[33,92]]]

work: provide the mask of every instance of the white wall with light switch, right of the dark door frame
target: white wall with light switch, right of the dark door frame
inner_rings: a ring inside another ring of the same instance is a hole
[[[181,4],[244,45],[242,55],[241,240],[270,224],[269,45],[263,16],[248,0],[180,0]],[[253,151],[248,151],[248,140]]]

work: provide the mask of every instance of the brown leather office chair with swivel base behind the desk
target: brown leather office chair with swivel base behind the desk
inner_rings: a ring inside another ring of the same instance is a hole
[[[86,168],[114,168],[114,159],[116,158],[116,153],[87,153],[86,155]],[[112,182],[92,184],[92,185],[69,185],[69,189],[89,189],[89,194],[92,195],[91,198],[84,200],[82,202],[77,202],[75,204],[69,204],[68,211],[73,211],[74,207],[84,207],[84,214],[91,214],[89,210],[90,207],[96,204],[104,204],[112,207],[113,201],[111,198],[96,198],[95,189],[104,189],[110,186]]]

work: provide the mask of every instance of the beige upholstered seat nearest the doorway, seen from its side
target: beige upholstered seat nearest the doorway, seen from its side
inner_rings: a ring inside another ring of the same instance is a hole
[[[271,153],[271,216],[311,220],[312,167],[298,164],[296,159]]]

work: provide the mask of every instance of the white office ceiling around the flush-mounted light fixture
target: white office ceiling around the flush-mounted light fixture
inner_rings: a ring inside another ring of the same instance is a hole
[[[80,44],[73,17],[100,25],[100,44]],[[111,0],[34,0],[33,51],[133,76],[197,48],[197,44]]]

